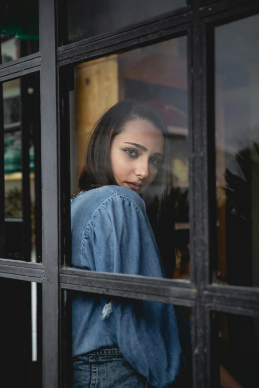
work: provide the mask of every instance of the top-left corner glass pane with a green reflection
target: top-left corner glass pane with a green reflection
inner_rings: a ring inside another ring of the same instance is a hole
[[[1,0],[1,63],[39,51],[38,0]]]

